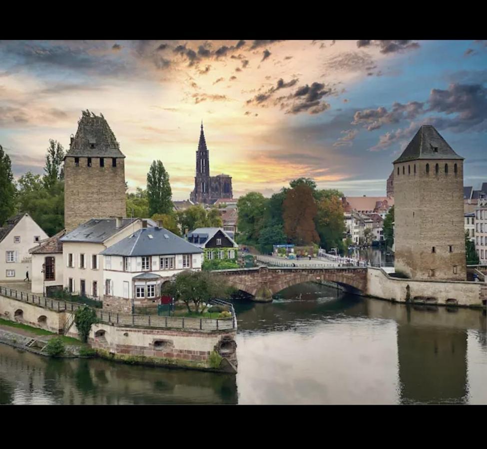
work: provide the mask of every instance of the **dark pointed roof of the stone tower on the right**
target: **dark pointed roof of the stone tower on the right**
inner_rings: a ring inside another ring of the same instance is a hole
[[[403,154],[393,163],[416,159],[464,159],[459,156],[432,125],[423,125]]]

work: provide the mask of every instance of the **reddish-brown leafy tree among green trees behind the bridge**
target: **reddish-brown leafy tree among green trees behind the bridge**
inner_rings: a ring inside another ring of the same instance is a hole
[[[298,244],[318,242],[314,219],[318,213],[313,190],[305,183],[287,192],[283,203],[284,232]]]

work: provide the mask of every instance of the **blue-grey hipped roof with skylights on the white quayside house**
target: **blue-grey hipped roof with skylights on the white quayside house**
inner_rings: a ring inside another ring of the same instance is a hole
[[[195,254],[203,252],[196,245],[163,227],[147,227],[106,248],[100,254],[146,256],[164,254]]]

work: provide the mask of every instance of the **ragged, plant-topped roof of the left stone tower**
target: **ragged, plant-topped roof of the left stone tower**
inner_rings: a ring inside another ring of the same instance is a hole
[[[124,158],[103,114],[98,117],[88,110],[82,114],[66,156]]]

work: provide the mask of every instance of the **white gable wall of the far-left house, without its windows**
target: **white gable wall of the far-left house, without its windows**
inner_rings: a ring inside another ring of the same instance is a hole
[[[14,242],[15,236],[20,237],[19,243]],[[34,236],[38,236],[39,240],[48,237],[42,228],[28,214],[25,214],[0,242],[0,280],[21,281],[25,279],[26,271],[29,272],[29,277],[31,276],[29,249],[37,244]],[[17,261],[6,262],[6,251],[15,251]],[[7,277],[6,270],[15,270],[15,276]]]

